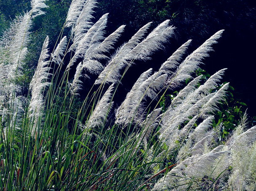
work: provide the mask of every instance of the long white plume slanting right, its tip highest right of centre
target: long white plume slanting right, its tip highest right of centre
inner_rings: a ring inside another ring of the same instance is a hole
[[[136,41],[132,40],[130,43],[124,44],[116,55],[112,58],[106,68],[100,73],[100,76],[95,81],[95,84],[115,83],[121,78],[121,70],[133,64],[133,60],[148,60],[150,56],[159,49],[163,48],[164,42],[172,36],[174,27],[168,26],[169,20],[164,21],[156,27],[148,37],[142,42],[134,45]],[[144,33],[143,33],[144,34]]]

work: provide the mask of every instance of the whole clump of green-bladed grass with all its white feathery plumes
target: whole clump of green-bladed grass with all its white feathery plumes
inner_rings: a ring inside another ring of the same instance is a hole
[[[17,18],[2,38],[0,49],[9,48],[0,55],[0,189],[255,189],[256,128],[246,127],[245,116],[224,144],[222,127],[212,127],[228,88],[216,89],[224,70],[205,83],[202,76],[193,78],[223,30],[185,59],[191,40],[158,71],[142,73],[119,104],[127,71],[163,49],[175,28],[167,20],[148,34],[151,23],[146,24],[116,48],[124,26],[105,37],[108,14],[93,24],[96,4],[73,0],[62,29],[71,36],[61,33],[51,56],[47,46],[56,39],[46,38],[28,95],[19,92],[16,79],[25,64],[32,18],[44,13],[44,0],[33,0],[32,10],[21,17],[26,19]],[[183,87],[187,79],[191,82]],[[178,95],[162,110],[162,98],[175,90]]]

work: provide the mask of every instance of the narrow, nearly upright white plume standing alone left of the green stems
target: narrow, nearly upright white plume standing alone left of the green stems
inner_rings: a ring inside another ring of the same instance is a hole
[[[43,89],[45,89],[50,83],[47,82],[49,77],[49,58],[48,53],[49,37],[47,36],[42,47],[42,51],[38,60],[38,66],[35,74],[30,82],[31,100],[29,105],[29,117],[34,120],[34,126],[31,129],[32,135],[35,132],[35,128],[38,123],[38,118],[42,116],[43,111]]]

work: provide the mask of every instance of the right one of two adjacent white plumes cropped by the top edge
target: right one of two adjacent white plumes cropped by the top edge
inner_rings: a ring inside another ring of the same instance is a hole
[[[93,9],[96,7],[96,0],[87,0],[84,4],[83,9],[75,22],[75,26],[72,28],[73,35],[73,48],[76,48],[80,43],[80,40],[86,35],[87,31],[92,27],[92,13],[94,13]]]

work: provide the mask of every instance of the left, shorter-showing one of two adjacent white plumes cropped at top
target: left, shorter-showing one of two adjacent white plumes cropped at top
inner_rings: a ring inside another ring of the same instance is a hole
[[[86,0],[72,0],[70,7],[67,12],[66,24],[65,27],[74,26],[81,10],[84,7]]]

